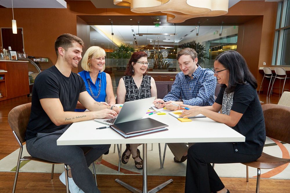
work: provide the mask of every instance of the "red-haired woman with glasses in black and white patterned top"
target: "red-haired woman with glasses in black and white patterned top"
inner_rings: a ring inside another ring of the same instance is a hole
[[[127,101],[157,98],[157,90],[154,79],[147,75],[148,61],[145,52],[134,52],[127,64],[125,76],[120,79],[117,89],[117,103],[123,104]],[[126,150],[122,154],[122,163],[129,161],[130,155],[135,161],[138,170],[143,169],[143,160],[140,156],[138,146],[141,144],[126,144]]]

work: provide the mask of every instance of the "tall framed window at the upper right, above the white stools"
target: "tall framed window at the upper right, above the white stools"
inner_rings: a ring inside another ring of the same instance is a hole
[[[290,65],[290,3],[278,3],[272,65]]]

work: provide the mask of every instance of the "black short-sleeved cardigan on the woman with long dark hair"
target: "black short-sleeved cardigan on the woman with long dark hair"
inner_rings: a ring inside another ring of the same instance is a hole
[[[223,105],[225,88],[221,88],[216,103]],[[246,137],[234,143],[234,151],[243,154],[262,154],[266,139],[265,122],[257,91],[250,84],[239,84],[233,94],[231,110],[243,116],[233,129]]]

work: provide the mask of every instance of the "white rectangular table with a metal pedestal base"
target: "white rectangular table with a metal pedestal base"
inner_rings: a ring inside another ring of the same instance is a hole
[[[157,192],[167,184],[163,184],[147,190],[147,143],[202,143],[202,142],[243,142],[245,137],[223,123],[215,122],[209,118],[195,118],[191,122],[180,122],[173,116],[148,115],[162,123],[169,125],[168,131],[152,133],[125,139],[111,128],[96,130],[105,126],[94,120],[73,123],[62,136],[57,140],[57,145],[89,145],[89,144],[122,144],[122,143],[143,143],[143,190],[140,191],[119,179],[118,183],[132,192]]]

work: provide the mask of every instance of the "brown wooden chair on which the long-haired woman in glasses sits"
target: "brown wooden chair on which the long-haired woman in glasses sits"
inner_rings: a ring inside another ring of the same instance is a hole
[[[290,107],[264,104],[262,110],[265,118],[266,135],[273,139],[290,143],[289,114]],[[242,163],[246,165],[247,182],[249,181],[248,166],[257,168],[257,186],[256,193],[259,192],[261,169],[271,169],[289,163],[290,159],[278,158],[262,153],[262,156],[256,161]]]

